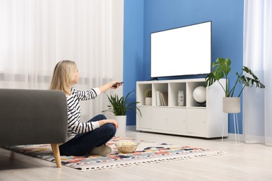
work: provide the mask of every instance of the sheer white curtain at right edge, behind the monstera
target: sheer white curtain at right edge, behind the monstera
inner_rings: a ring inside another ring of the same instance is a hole
[[[243,92],[245,142],[272,145],[272,1],[244,2],[243,65],[266,86]]]

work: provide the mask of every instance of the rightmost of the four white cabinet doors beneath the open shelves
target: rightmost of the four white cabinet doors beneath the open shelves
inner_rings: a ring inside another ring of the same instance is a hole
[[[206,135],[206,109],[187,109],[187,132],[195,136]]]

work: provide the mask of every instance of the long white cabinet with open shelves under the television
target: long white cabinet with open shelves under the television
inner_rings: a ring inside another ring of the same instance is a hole
[[[227,113],[222,111],[224,91],[216,83],[206,88],[206,103],[199,104],[193,97],[198,86],[204,86],[205,79],[179,79],[163,81],[137,81],[137,107],[142,116],[137,114],[136,127],[139,131],[178,134],[214,138],[227,133]],[[225,86],[225,80],[221,81]],[[144,104],[145,91],[152,89],[152,105]],[[183,106],[178,106],[178,93],[183,91]],[[158,93],[165,93],[165,104]]]

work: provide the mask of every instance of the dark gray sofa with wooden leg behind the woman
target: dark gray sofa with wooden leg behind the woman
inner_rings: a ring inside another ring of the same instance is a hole
[[[0,88],[0,125],[0,146],[50,143],[61,167],[58,143],[67,135],[63,92]]]

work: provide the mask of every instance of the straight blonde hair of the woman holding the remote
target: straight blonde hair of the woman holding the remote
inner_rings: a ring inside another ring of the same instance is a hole
[[[50,83],[50,90],[60,90],[70,95],[70,82],[75,79],[77,65],[73,61],[59,61],[56,64],[53,72],[53,77]]]

